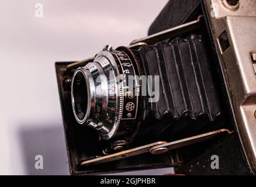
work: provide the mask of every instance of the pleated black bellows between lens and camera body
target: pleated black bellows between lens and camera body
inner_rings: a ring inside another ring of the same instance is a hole
[[[142,119],[153,111],[156,119],[207,116],[213,121],[220,105],[201,36],[176,38],[138,50],[145,75],[159,75],[159,101],[144,99]]]

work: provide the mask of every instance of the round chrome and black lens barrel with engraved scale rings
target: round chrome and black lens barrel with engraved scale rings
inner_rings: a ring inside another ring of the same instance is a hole
[[[135,89],[139,84],[137,79],[129,86],[127,82],[135,75],[129,56],[109,47],[98,53],[93,62],[77,68],[71,84],[77,122],[98,130],[104,140],[130,133],[138,110]]]

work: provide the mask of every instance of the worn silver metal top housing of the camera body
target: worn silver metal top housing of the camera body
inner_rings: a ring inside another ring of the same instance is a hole
[[[256,172],[256,77],[250,55],[256,50],[256,1],[240,0],[233,11],[222,1],[226,0],[206,0],[205,4],[216,46],[224,31],[230,42],[226,51],[221,53],[219,46],[218,52],[230,87],[236,129],[248,164]]]

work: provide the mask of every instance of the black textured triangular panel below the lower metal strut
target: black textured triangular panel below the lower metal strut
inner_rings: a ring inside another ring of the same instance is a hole
[[[211,162],[216,161],[211,158],[213,155],[219,157],[219,169],[211,168]],[[197,157],[176,169],[176,173],[186,175],[250,175],[245,158],[239,143],[237,133],[233,133],[225,140],[221,141],[205,154]]]

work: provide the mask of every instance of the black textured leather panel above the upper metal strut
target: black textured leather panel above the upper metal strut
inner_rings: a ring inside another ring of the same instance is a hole
[[[148,34],[154,34],[196,19],[193,12],[202,0],[170,0],[149,27]]]

